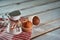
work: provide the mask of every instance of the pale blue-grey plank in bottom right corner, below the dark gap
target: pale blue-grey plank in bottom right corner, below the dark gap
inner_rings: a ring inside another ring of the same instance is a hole
[[[43,36],[37,37],[33,40],[60,40],[60,29],[49,32]]]

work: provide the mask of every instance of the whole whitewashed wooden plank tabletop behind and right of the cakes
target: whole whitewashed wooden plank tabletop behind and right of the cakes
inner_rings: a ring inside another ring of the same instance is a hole
[[[37,15],[40,18],[41,24],[33,26],[32,40],[53,40],[54,35],[52,36],[49,33],[60,28],[60,0],[0,1],[0,14],[14,10],[20,10],[22,16],[31,17]],[[53,34],[56,32],[53,32]],[[42,36],[43,34],[45,35]],[[60,39],[58,38],[58,40]]]

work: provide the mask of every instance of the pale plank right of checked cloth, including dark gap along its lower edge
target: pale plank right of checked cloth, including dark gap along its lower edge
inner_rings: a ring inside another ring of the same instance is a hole
[[[37,26],[35,28],[33,28],[33,32],[32,32],[32,39],[41,36],[45,33],[54,31],[56,29],[60,28],[60,19],[55,20],[51,23],[45,24],[45,25],[41,25],[41,26]]]

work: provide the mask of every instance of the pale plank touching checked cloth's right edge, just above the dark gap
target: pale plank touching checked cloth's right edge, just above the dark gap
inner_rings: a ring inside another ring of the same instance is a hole
[[[42,34],[44,32],[49,31],[49,30],[53,30],[54,28],[58,28],[59,26],[60,26],[60,20],[57,20],[57,21],[48,23],[47,25],[33,28],[32,38],[34,36],[40,35],[40,34]]]

